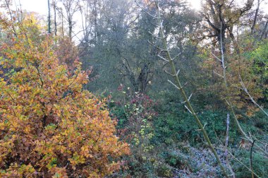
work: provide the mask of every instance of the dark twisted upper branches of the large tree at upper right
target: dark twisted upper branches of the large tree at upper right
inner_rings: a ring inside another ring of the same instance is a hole
[[[233,28],[240,23],[240,18],[250,11],[253,0],[247,0],[242,7],[236,1],[206,0],[202,16],[205,24],[205,37],[212,39],[214,44],[222,40],[224,53],[226,52],[226,36],[234,40]]]

